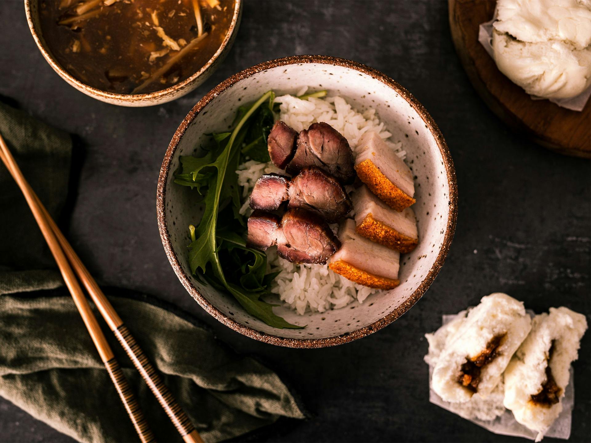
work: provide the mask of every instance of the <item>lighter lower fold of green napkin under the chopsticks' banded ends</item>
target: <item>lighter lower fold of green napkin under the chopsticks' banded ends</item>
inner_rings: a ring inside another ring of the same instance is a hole
[[[280,378],[212,332],[147,302],[109,297],[204,441],[237,437],[303,412]],[[180,435],[108,331],[159,441]],[[69,296],[0,297],[0,395],[79,441],[138,441]]]

